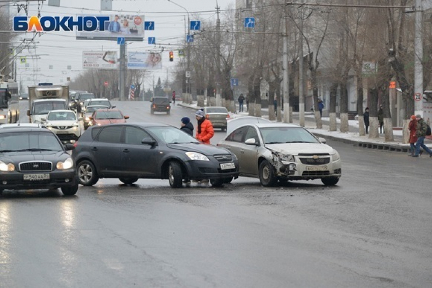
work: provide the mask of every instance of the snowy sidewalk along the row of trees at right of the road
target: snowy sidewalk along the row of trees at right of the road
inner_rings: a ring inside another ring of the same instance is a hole
[[[198,107],[196,102],[192,105],[178,103],[178,106],[182,106],[185,108],[198,110],[202,107]],[[268,109],[262,109],[262,117],[268,119]],[[237,112],[230,113],[231,118],[248,116],[248,112]],[[348,144],[353,144],[354,146],[370,148],[370,149],[378,149],[385,151],[395,151],[395,152],[404,152],[408,153],[410,151],[410,144],[403,143],[403,131],[402,130],[393,130],[393,138],[394,141],[385,142],[384,135],[380,134],[379,138],[369,139],[368,136],[360,136],[358,133],[358,120],[349,120],[350,132],[342,133],[340,131],[329,131],[329,118],[322,117],[323,129],[316,129],[315,117],[312,112],[305,112],[305,128],[312,132],[317,137],[322,137],[327,140],[339,141]],[[337,123],[340,123],[341,120],[337,119]],[[298,120],[298,112],[293,112],[293,124],[299,124]],[[426,139],[425,144],[427,147],[432,149],[431,141]],[[426,153],[427,155],[427,153]]]

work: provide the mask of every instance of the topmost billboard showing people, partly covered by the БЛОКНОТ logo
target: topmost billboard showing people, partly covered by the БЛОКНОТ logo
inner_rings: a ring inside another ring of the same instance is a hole
[[[77,31],[77,39],[115,40],[124,37],[126,41],[143,41],[144,15],[115,14],[105,15],[109,21],[104,22],[104,31]]]

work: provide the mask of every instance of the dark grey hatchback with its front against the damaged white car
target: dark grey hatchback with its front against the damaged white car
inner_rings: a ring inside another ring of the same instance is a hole
[[[201,144],[158,123],[91,126],[75,143],[72,157],[85,186],[99,178],[119,178],[126,184],[139,178],[168,179],[173,188],[183,180],[209,179],[212,186],[222,186],[239,173],[237,158],[227,149]]]

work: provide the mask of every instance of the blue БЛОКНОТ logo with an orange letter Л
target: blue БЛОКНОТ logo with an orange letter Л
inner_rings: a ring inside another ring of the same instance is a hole
[[[38,18],[32,16],[14,17],[14,31],[73,31],[77,27],[78,31],[105,31],[105,22],[109,22],[109,16],[43,16]]]

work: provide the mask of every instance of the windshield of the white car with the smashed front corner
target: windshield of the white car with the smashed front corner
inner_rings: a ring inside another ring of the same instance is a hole
[[[311,133],[301,127],[260,128],[264,144],[320,143]]]

